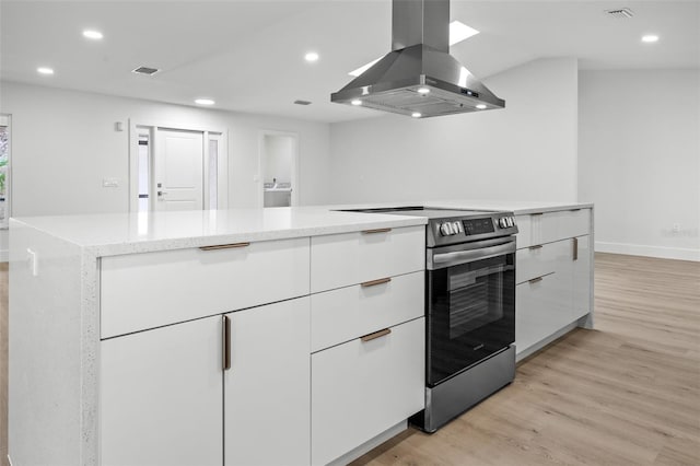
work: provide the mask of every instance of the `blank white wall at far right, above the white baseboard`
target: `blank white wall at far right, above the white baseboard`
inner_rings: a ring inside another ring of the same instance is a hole
[[[582,71],[579,83],[579,196],[596,205],[596,251],[700,260],[700,72]]]

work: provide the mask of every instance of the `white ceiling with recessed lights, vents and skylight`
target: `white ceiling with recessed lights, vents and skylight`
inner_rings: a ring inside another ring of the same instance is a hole
[[[452,47],[479,78],[544,57],[581,69],[700,68],[700,0],[466,1],[480,31]],[[632,19],[604,10],[627,7]],[[0,2],[0,78],[182,105],[343,121],[375,110],[331,104],[348,72],[389,51],[390,0]],[[82,36],[95,28],[104,39]],[[643,34],[656,44],[642,44]],[[317,51],[308,63],[304,55]],[[37,67],[55,69],[39,75]],[[130,71],[159,68],[153,77]],[[311,101],[308,106],[295,100]]]

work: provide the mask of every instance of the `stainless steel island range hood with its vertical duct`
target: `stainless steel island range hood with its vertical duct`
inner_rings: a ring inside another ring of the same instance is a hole
[[[331,102],[421,118],[505,106],[450,55],[450,0],[393,0],[392,9],[392,51]]]

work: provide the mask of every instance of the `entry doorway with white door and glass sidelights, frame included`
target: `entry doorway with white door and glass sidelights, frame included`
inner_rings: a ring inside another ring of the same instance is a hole
[[[225,209],[223,131],[132,125],[129,209],[136,212]]]

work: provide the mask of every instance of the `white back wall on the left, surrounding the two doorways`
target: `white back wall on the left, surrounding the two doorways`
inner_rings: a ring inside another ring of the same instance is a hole
[[[2,82],[0,113],[12,114],[14,217],[128,210],[128,130],[115,123],[170,124],[229,133],[230,207],[255,207],[261,130],[296,132],[300,205],[327,202],[328,125],[201,109]],[[103,188],[105,177],[118,188]]]

